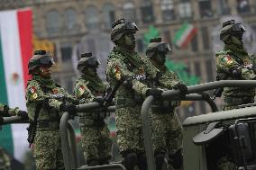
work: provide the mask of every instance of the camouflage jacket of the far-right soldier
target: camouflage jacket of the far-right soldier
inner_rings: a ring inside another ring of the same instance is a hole
[[[232,76],[232,67],[242,67],[242,79],[252,80],[256,78],[256,75],[251,69],[255,65],[255,62],[250,56],[238,56],[232,50],[224,49],[216,53],[216,72],[219,79],[225,80],[235,80],[237,78]],[[253,97],[255,95],[254,88],[244,88],[238,87],[225,87],[224,96],[230,97],[240,97],[248,96]]]

